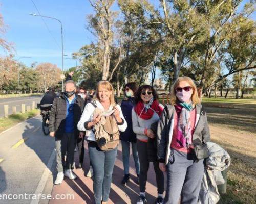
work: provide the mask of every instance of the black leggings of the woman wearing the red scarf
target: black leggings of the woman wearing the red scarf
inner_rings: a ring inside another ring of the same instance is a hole
[[[141,142],[137,140],[137,150],[140,160],[140,192],[145,192],[146,190],[146,181],[147,181],[147,171],[150,167],[150,161],[147,157],[147,142]],[[164,192],[164,175],[163,172],[159,169],[159,162],[153,162],[154,170],[156,173],[157,181],[157,192],[163,194]]]

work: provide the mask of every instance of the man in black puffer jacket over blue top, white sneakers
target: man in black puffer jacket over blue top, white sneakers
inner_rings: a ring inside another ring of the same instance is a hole
[[[64,175],[69,179],[76,179],[71,166],[74,162],[77,139],[83,137],[83,132],[79,132],[77,129],[83,107],[84,100],[76,94],[75,82],[72,80],[66,81],[65,92],[54,99],[50,110],[49,131],[50,136],[55,137],[58,171],[54,184],[61,184]],[[63,173],[63,170],[65,170],[65,173]]]

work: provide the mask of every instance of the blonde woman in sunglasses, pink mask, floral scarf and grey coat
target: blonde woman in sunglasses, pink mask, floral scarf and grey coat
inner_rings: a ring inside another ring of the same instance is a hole
[[[196,157],[194,149],[210,140],[206,113],[189,77],[176,80],[170,101],[157,130],[159,167],[167,172],[164,203],[176,204],[181,196],[182,204],[196,204],[204,163]]]

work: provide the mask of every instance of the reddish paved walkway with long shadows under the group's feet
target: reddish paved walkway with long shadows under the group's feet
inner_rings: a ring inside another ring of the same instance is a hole
[[[89,169],[89,156],[86,146],[86,154],[84,156],[84,172]],[[78,151],[75,152],[75,161],[78,163]],[[55,198],[57,194],[74,195],[72,199],[66,200],[50,200],[49,204],[73,204],[73,203],[93,203],[93,181],[92,179],[85,177],[82,169],[75,169],[74,172],[77,175],[76,180],[69,180],[65,177],[65,180],[61,185],[55,185],[52,190],[52,197]],[[133,157],[130,156],[130,182],[126,186],[121,185],[121,180],[123,177],[123,164],[122,164],[122,152],[121,145],[118,147],[117,159],[114,167],[114,172],[112,176],[112,184],[110,191],[110,200],[108,203],[136,203],[138,199],[139,186],[134,182],[137,175],[135,171]],[[153,164],[150,165],[150,170],[148,171],[148,182],[146,184],[146,199],[148,203],[155,203],[157,197],[156,188],[156,177],[153,169]],[[166,181],[166,180],[165,180]],[[74,199],[73,199],[74,198]]]

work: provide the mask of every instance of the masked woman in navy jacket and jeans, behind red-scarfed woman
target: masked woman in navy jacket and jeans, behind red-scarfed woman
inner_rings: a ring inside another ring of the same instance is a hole
[[[122,143],[122,155],[123,155],[123,170],[124,170],[124,177],[122,179],[122,185],[125,185],[130,179],[129,173],[129,157],[130,157],[130,143],[132,144],[132,152],[133,152],[133,159],[135,163],[135,169],[137,173],[137,177],[139,179],[140,173],[140,162],[139,156],[137,151],[137,143],[136,143],[136,134],[133,132],[133,125],[132,125],[132,109],[135,105],[134,94],[137,91],[138,86],[135,82],[127,83],[124,86],[124,93],[126,99],[122,100],[121,103],[121,110],[123,116],[127,122],[127,128],[124,132],[120,132],[120,140]],[[139,181],[136,181],[139,183]]]

